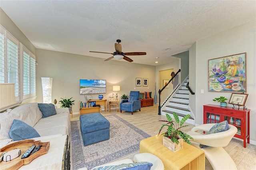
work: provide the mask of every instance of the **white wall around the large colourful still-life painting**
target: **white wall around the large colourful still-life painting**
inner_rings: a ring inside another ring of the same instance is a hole
[[[196,124],[203,123],[203,105],[216,104],[215,97],[231,93],[208,92],[208,59],[224,57],[246,52],[246,77],[248,98],[245,103],[250,109],[250,139],[256,141],[256,21],[238,26],[215,36],[196,42],[196,55],[190,59],[196,61],[196,68],[190,69],[190,75],[196,75]],[[190,62],[190,65],[194,65]],[[195,73],[195,74],[194,74]],[[193,84],[192,84],[193,85]],[[204,94],[200,90],[204,89]],[[228,106],[232,106],[228,104]],[[256,144],[256,143],[255,143]]]

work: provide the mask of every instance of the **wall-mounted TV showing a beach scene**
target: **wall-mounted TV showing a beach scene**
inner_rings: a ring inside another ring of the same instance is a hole
[[[80,95],[106,93],[106,80],[80,79]]]

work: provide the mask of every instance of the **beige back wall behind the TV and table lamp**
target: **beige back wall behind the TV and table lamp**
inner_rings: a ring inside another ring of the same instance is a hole
[[[75,105],[73,112],[79,112],[79,100],[85,101],[84,95],[80,95],[80,79],[104,79],[106,80],[106,93],[104,99],[112,96],[112,86],[120,85],[118,99],[122,93],[130,91],[152,91],[154,94],[155,66],[130,63],[127,61],[110,60],[88,57],[70,53],[62,53],[44,49],[36,49],[38,65],[36,67],[36,102],[42,102],[41,77],[52,77],[52,101],[60,97],[73,97]],[[135,78],[148,78],[148,86],[138,87]],[[134,90],[134,88],[136,88]],[[98,99],[99,94],[92,95],[92,99]],[[60,104],[57,105],[60,107]]]

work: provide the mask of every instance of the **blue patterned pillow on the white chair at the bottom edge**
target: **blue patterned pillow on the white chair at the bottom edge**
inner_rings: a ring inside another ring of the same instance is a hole
[[[153,166],[153,164],[150,162],[136,162],[130,164],[101,166],[98,168],[92,168],[91,170],[150,170],[151,166]]]

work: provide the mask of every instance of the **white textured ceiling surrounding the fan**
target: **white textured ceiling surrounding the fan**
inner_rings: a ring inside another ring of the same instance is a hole
[[[1,0],[0,8],[36,48],[104,60],[112,55],[89,51],[112,53],[120,39],[123,52],[146,52],[129,57],[147,65],[170,63],[196,41],[256,20],[255,0]]]

